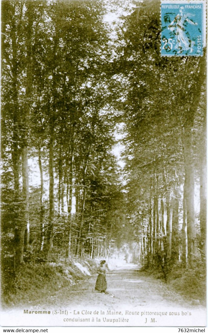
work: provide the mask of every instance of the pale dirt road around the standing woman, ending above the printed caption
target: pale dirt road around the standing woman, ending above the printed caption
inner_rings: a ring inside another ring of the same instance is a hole
[[[193,307],[191,303],[171,291],[168,284],[155,279],[139,270],[138,266],[126,264],[122,267],[107,272],[107,292],[109,294],[95,291],[97,274],[78,284],[65,287],[49,296],[45,300],[47,306],[65,307],[71,309],[102,308],[104,310],[116,310],[125,306],[131,310],[136,307],[161,307],[161,308],[184,308]],[[113,294],[110,295],[110,294]],[[45,304],[39,306],[43,307]],[[199,306],[200,307],[200,306]]]

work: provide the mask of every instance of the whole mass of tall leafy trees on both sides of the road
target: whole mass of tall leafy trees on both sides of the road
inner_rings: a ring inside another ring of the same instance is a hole
[[[157,0],[2,1],[5,276],[121,249],[165,279],[205,264],[206,50],[161,57],[160,32]]]

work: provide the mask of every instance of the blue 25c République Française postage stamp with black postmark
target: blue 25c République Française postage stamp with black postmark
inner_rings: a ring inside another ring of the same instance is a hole
[[[204,1],[161,2],[161,55],[202,56]]]

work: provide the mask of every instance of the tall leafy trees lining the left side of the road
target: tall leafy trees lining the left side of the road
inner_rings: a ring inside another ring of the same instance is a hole
[[[108,255],[119,238],[115,82],[102,6],[2,3],[2,230],[15,266],[31,256]]]

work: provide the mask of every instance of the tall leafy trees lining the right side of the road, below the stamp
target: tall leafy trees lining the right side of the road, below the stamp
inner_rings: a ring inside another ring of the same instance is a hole
[[[125,19],[120,63],[129,216],[140,260],[166,278],[205,264],[206,53],[161,57],[159,10],[144,1]]]

